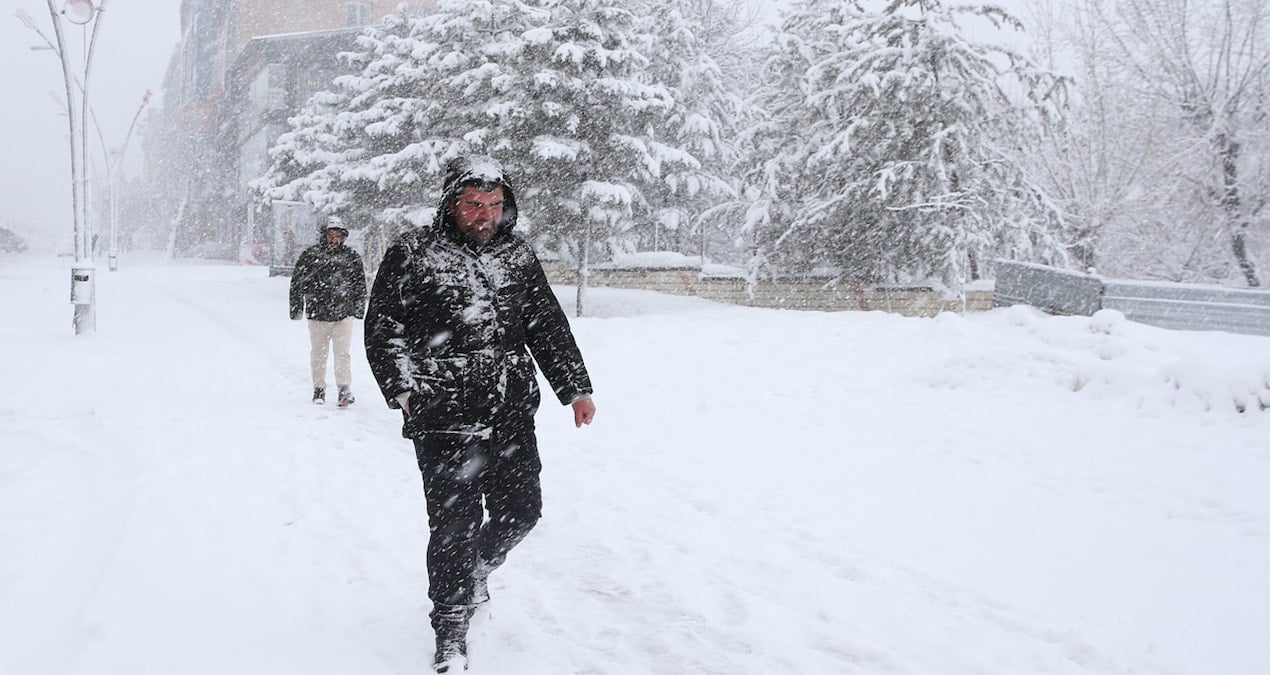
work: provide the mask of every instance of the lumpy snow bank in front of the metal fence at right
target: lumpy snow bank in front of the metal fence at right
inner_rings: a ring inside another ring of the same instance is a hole
[[[930,329],[942,333],[926,341],[940,346],[928,355],[937,362],[917,378],[933,386],[991,386],[1003,371],[1022,369],[1038,385],[1134,400],[1144,412],[1270,409],[1266,337],[1167,331],[1109,309],[1092,317],[1050,317],[1024,305],[980,315],[944,314]]]

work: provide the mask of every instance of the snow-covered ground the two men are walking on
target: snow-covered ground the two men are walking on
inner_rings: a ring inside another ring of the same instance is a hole
[[[361,350],[316,407],[286,278],[124,257],[75,337],[65,264],[0,257],[0,672],[427,671]],[[1270,338],[589,300],[471,672],[1270,672]]]

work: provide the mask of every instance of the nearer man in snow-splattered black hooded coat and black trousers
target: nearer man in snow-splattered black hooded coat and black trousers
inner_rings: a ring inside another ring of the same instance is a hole
[[[514,226],[502,167],[452,160],[433,225],[389,248],[367,311],[371,370],[423,473],[438,672],[466,666],[489,573],[541,514],[535,361],[575,426],[596,414],[569,320]]]

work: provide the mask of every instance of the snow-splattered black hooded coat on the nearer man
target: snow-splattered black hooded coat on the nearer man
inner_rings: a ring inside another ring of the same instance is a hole
[[[385,253],[371,290],[366,356],[391,408],[410,393],[403,435],[472,433],[532,423],[540,402],[535,361],[560,403],[591,393],[591,379],[533,249],[518,235],[511,184],[503,221],[484,245],[458,233],[446,183],[432,228],[404,234]],[[531,358],[532,355],[532,358]],[[531,427],[532,428],[532,427]]]

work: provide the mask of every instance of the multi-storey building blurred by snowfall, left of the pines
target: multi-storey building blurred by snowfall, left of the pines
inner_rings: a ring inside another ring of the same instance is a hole
[[[434,0],[404,3],[425,11]],[[338,58],[400,0],[182,0],[146,173],[177,256],[290,264],[316,240],[307,208],[254,205],[287,118],[347,71]],[[287,258],[291,259],[287,259]]]

